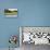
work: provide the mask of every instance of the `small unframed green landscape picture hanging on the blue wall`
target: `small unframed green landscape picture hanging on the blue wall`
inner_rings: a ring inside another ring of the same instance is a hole
[[[17,17],[17,9],[4,9],[5,17]]]

